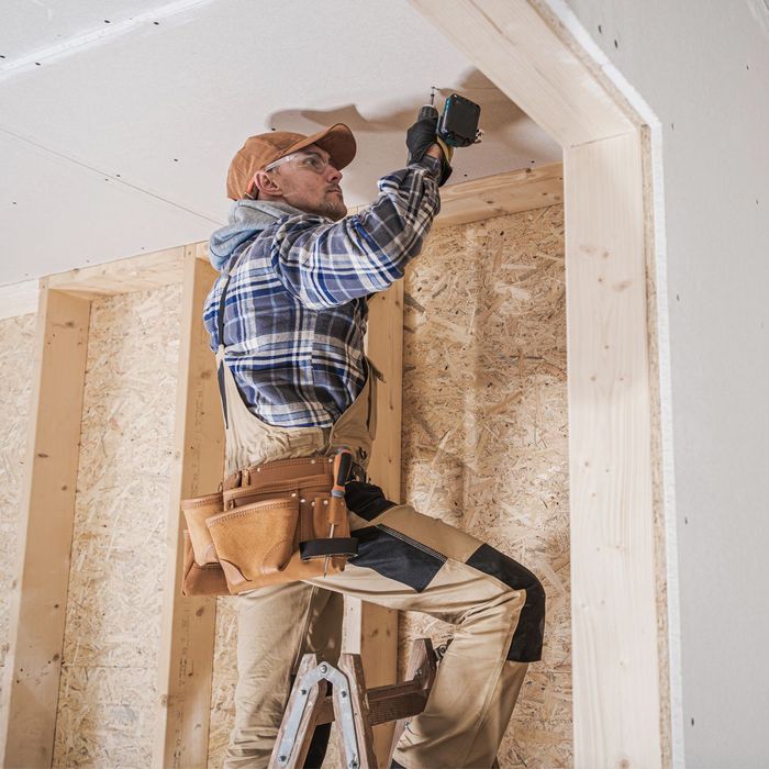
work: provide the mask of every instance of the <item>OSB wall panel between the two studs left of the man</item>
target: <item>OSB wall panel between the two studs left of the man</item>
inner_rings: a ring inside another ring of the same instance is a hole
[[[151,764],[180,299],[92,303],[56,767]]]

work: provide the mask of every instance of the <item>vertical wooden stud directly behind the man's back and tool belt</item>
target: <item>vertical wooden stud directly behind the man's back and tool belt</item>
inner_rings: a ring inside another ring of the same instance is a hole
[[[203,301],[216,272],[188,246],[183,257],[181,345],[176,410],[178,462],[166,532],[168,558],[153,766],[204,768],[208,762],[215,600],[181,594],[180,500],[215,489],[222,479],[224,428]]]

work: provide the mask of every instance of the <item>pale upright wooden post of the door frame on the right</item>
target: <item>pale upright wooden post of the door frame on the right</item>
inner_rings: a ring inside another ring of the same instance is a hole
[[[660,765],[639,135],[567,149],[575,758]]]

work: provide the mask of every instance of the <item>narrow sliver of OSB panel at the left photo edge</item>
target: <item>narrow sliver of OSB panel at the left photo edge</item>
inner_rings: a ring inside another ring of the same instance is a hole
[[[8,653],[8,595],[18,555],[34,337],[35,315],[0,321],[0,681]]]

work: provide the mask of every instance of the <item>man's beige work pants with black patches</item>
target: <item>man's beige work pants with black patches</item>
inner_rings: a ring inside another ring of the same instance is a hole
[[[394,759],[408,769],[478,767],[497,755],[527,664],[540,658],[545,594],[531,571],[377,487],[347,486],[358,556],[344,572],[238,597],[236,723],[225,769],[261,769],[301,655],[339,653],[342,595],[456,626],[427,705]]]

